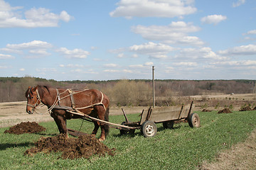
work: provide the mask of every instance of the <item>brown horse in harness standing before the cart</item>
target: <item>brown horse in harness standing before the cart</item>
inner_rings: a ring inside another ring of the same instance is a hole
[[[28,87],[26,91],[26,112],[32,114],[40,103],[48,106],[48,111],[55,120],[60,133],[68,137],[67,120],[81,118],[80,115],[68,111],[78,111],[100,120],[108,121],[110,99],[95,89],[72,91],[70,89],[55,89],[49,86]],[[96,135],[101,128],[100,141],[106,139],[109,125],[93,121],[95,128],[92,135]]]

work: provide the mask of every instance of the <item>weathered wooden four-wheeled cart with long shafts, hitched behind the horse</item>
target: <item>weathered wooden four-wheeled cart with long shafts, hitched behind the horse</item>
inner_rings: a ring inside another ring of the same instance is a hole
[[[105,120],[100,120],[97,118],[92,118],[89,115],[83,113],[69,111],[70,113],[81,115],[82,119],[91,121],[98,121],[102,124],[110,125],[111,128],[116,128],[120,130],[122,135],[133,134],[135,130],[141,130],[144,137],[153,137],[156,135],[157,127],[156,123],[163,123],[164,128],[173,128],[175,120],[188,120],[188,125],[191,128],[200,127],[200,118],[198,114],[192,113],[193,101],[191,104],[182,106],[168,106],[168,107],[156,107],[149,108],[142,111],[141,118],[138,122],[129,122],[127,115],[124,113],[125,121],[119,125],[116,123],[110,123]],[[79,134],[76,130],[68,129],[70,135]]]

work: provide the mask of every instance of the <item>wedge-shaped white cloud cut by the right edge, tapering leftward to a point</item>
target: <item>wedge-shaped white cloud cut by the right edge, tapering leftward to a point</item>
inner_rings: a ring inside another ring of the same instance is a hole
[[[232,55],[256,55],[256,45],[241,45],[239,47],[233,47],[228,50],[218,51],[220,55],[232,56]]]

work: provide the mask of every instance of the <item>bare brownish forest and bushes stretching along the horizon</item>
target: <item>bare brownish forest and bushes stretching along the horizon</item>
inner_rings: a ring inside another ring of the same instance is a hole
[[[55,81],[36,77],[0,77],[0,102],[26,101],[28,86],[47,85],[68,89],[99,89],[116,106],[147,106],[152,100],[149,79],[109,81]],[[172,96],[193,96],[213,93],[250,94],[255,80],[155,80],[155,96],[171,100]]]

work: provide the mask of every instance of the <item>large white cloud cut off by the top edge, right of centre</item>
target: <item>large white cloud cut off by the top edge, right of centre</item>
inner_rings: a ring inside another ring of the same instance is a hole
[[[173,18],[195,13],[197,9],[192,5],[193,1],[181,0],[121,0],[117,3],[117,8],[110,12],[110,16]]]

